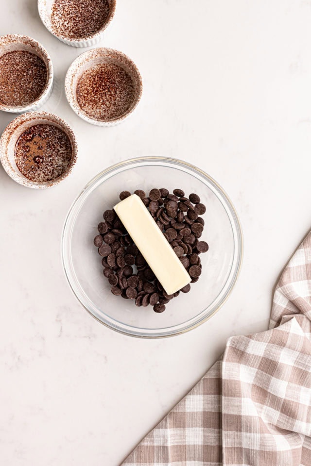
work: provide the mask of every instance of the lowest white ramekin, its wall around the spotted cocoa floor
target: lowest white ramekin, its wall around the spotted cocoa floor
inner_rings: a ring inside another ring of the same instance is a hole
[[[19,136],[34,125],[50,124],[63,130],[69,137],[72,148],[71,163],[60,177],[45,183],[35,183],[20,173],[15,162],[15,146]],[[44,189],[63,181],[71,172],[77,160],[77,142],[68,124],[59,116],[46,112],[30,112],[17,116],[3,131],[0,138],[0,162],[7,174],[17,183],[29,188]]]

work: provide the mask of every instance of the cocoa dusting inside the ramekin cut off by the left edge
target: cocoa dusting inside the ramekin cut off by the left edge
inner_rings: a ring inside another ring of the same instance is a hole
[[[47,67],[34,53],[15,50],[0,57],[0,103],[21,107],[34,102],[47,83]]]

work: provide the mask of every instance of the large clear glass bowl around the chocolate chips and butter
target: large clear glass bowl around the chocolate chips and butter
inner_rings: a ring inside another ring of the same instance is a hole
[[[165,187],[196,193],[207,206],[201,240],[202,274],[189,293],[180,293],[156,314],[110,291],[101,256],[93,244],[103,213],[119,201],[119,193]],[[107,327],[127,335],[159,338],[187,332],[205,322],[224,304],[242,261],[242,231],[223,189],[199,168],[177,159],[143,157],[111,166],[91,180],[72,204],[62,234],[62,259],[69,285],[85,309]]]

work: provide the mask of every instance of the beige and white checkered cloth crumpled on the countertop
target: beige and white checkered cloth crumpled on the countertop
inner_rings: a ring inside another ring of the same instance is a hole
[[[276,286],[270,329],[229,338],[123,465],[311,466],[311,233]]]

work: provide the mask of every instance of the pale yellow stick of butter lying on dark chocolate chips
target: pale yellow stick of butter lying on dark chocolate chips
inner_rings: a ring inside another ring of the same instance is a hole
[[[190,283],[187,270],[136,194],[121,200],[114,210],[168,295]]]

